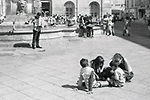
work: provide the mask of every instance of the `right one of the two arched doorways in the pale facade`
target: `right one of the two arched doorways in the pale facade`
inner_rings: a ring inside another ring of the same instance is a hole
[[[98,2],[94,1],[90,3],[90,15],[93,18],[99,18],[100,17],[100,5]]]

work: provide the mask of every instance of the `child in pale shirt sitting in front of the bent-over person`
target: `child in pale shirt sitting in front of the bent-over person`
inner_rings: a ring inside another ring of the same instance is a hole
[[[111,78],[107,78],[109,85],[115,87],[124,86],[125,84],[124,71],[118,66],[118,63],[110,62],[110,66],[112,68],[112,70],[110,71],[112,73],[112,76]]]

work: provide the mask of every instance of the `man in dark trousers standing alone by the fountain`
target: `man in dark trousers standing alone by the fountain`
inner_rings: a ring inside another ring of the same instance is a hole
[[[42,28],[42,18],[41,18],[41,13],[37,13],[36,16],[32,20],[33,23],[33,39],[32,39],[32,48],[42,48],[39,45],[39,38],[41,34],[41,28]]]

